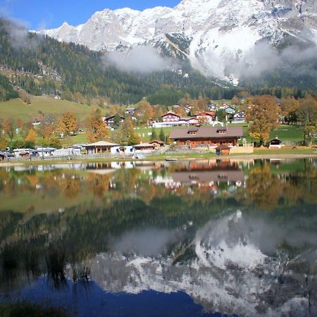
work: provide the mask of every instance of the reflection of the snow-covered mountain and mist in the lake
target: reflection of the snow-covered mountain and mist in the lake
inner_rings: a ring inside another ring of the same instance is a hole
[[[278,234],[277,234],[278,232]],[[306,297],[315,278],[303,267],[316,265],[316,234],[296,225],[282,228],[238,210],[206,223],[186,244],[166,254],[178,242],[179,230],[128,232],[114,241],[112,252],[91,262],[92,278],[107,292],[182,290],[206,311],[241,316],[312,316],[316,301]],[[281,244],[309,246],[292,259]],[[189,255],[191,254],[191,255]],[[310,306],[310,308],[309,308]]]

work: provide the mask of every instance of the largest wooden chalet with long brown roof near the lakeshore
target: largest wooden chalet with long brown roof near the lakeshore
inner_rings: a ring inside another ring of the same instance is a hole
[[[189,147],[218,147],[227,145],[237,146],[237,140],[243,135],[242,127],[200,127],[178,129],[170,132],[170,139],[179,146]]]

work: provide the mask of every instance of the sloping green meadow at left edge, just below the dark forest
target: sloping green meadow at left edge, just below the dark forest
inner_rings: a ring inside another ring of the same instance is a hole
[[[14,118],[15,120],[20,118],[27,122],[32,120],[39,111],[42,111],[42,113],[54,113],[56,115],[72,111],[77,115],[77,119],[82,121],[89,116],[93,107],[96,108],[96,106],[76,104],[72,101],[58,100],[48,96],[32,96],[31,100],[32,104],[30,105],[25,104],[20,99],[0,102],[0,118]]]

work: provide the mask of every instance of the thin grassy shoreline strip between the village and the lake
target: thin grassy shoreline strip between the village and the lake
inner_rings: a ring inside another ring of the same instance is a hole
[[[166,158],[178,159],[177,161],[173,161],[173,163],[178,161],[199,161],[204,159],[217,159],[217,160],[254,160],[254,159],[317,159],[316,154],[239,154],[239,155],[227,155],[227,156],[215,156],[215,155],[188,155],[188,154],[179,154],[179,155],[170,155],[170,156],[162,156],[162,157],[147,157],[145,159],[132,159],[132,158],[92,158],[92,159],[54,159],[54,160],[35,160],[35,161],[5,161],[0,162],[0,168],[2,167],[11,167],[11,166],[33,166],[33,165],[47,165],[47,164],[70,164],[70,163],[108,163],[108,162],[126,162],[126,161],[166,161]]]

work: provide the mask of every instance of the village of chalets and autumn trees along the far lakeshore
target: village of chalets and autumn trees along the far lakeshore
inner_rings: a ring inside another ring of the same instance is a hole
[[[237,103],[237,100],[232,101]],[[271,130],[285,125],[290,120],[290,114],[271,97],[259,97],[255,101],[258,102],[240,99],[239,105],[226,101],[217,104],[205,101],[202,106],[183,103],[167,107],[165,112],[162,107],[141,101],[138,107],[116,107],[116,113],[108,116],[102,116],[98,109],[92,110],[83,128],[80,128],[75,114],[69,111],[52,123],[44,122],[45,117],[41,119],[37,116],[32,125],[29,123],[31,128],[25,135],[24,144],[30,144],[30,147],[11,148],[8,147],[9,142],[1,142],[0,160],[145,159],[163,155],[168,159],[175,154],[208,153],[226,156],[253,154],[255,147],[263,145],[268,149],[282,149],[285,145],[297,149],[296,142],[287,143],[278,135],[270,138]],[[267,118],[262,116],[264,126],[257,128],[261,111],[271,113]],[[2,135],[8,135],[12,141],[23,129],[23,124],[17,124],[20,128],[15,128],[8,120],[4,121]],[[39,141],[40,136],[42,141]],[[313,145],[315,136],[313,130],[304,135],[310,145]],[[68,144],[63,142],[66,138]],[[73,139],[86,142],[69,144]],[[51,140],[51,143],[46,142],[48,146],[44,146],[43,140]]]

